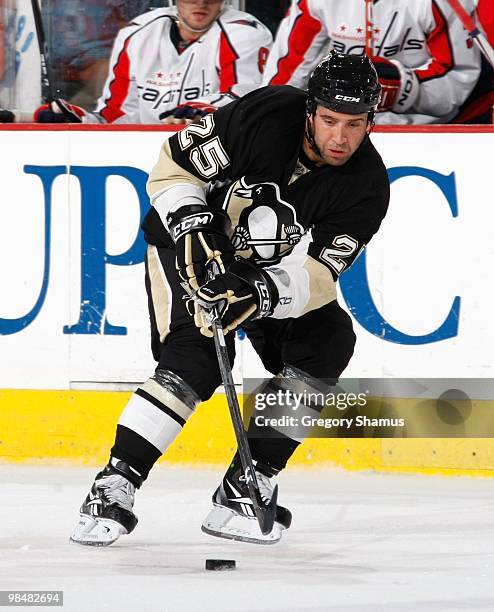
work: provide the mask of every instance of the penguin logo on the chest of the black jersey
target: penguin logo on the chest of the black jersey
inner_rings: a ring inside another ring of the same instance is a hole
[[[275,183],[232,185],[223,204],[235,228],[232,244],[244,259],[274,262],[300,241],[304,228]]]

